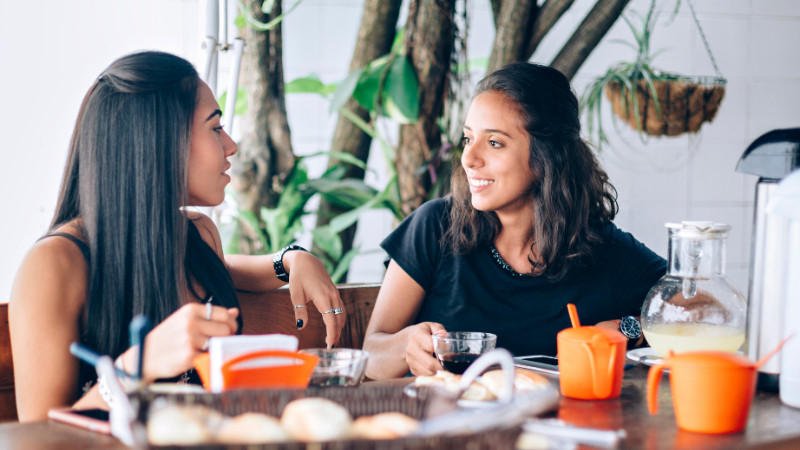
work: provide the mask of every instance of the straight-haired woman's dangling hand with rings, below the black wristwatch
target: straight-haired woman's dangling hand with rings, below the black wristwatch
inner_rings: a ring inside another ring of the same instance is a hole
[[[297,328],[302,329],[308,323],[306,303],[312,302],[325,322],[325,344],[333,347],[339,342],[347,311],[325,266],[316,256],[299,250],[284,253],[283,264],[289,273],[289,295]]]

